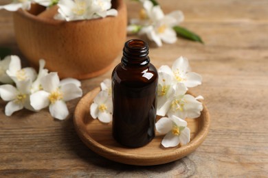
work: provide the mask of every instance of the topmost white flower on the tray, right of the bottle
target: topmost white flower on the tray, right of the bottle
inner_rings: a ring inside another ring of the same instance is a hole
[[[188,59],[182,56],[175,60],[172,68],[161,66],[158,71],[172,75],[177,82],[184,84],[187,88],[198,86],[202,81],[201,75],[190,72]]]

